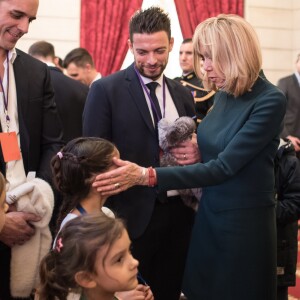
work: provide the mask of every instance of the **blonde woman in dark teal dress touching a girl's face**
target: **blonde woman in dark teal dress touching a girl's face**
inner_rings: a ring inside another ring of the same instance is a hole
[[[198,127],[202,162],[144,169],[115,159],[120,168],[99,175],[94,186],[102,194],[136,184],[202,187],[183,282],[187,298],[274,300],[273,161],[286,99],[263,76],[258,38],[243,18],[207,19],[196,28],[193,45],[196,72],[203,62],[203,80],[217,91]]]

